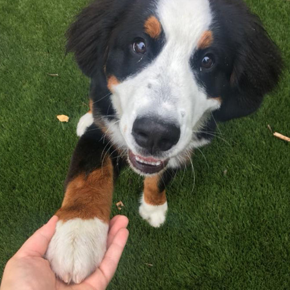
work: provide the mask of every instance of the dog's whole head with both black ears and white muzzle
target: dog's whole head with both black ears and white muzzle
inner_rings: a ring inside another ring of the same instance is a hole
[[[68,31],[113,142],[141,174],[186,160],[210,118],[258,109],[282,61],[238,0],[98,0]]]

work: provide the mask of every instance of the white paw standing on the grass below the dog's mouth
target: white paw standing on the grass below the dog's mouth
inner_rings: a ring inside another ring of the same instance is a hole
[[[144,195],[142,195],[141,205],[139,206],[139,214],[144,220],[147,220],[151,226],[159,228],[162,224],[164,224],[167,209],[167,202],[157,206],[150,205],[145,202]]]

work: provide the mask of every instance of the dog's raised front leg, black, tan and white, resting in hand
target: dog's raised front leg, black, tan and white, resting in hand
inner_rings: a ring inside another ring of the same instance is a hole
[[[94,125],[75,149],[56,232],[46,258],[64,282],[80,283],[104,257],[113,194],[110,144]]]

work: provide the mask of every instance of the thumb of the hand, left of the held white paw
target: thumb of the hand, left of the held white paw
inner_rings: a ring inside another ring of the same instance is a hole
[[[43,256],[55,233],[58,217],[54,215],[47,224],[38,229],[16,253],[18,256]]]

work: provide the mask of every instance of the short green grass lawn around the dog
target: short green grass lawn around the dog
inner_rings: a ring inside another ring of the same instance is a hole
[[[62,201],[88,93],[64,57],[64,32],[86,2],[0,1],[0,275]],[[247,2],[282,50],[280,86],[257,114],[220,124],[221,137],[196,151],[194,190],[191,170],[180,172],[162,228],[138,215],[142,179],[121,175],[114,204],[125,204],[130,237],[111,290],[290,289],[290,144],[267,129],[290,135],[290,2]]]

